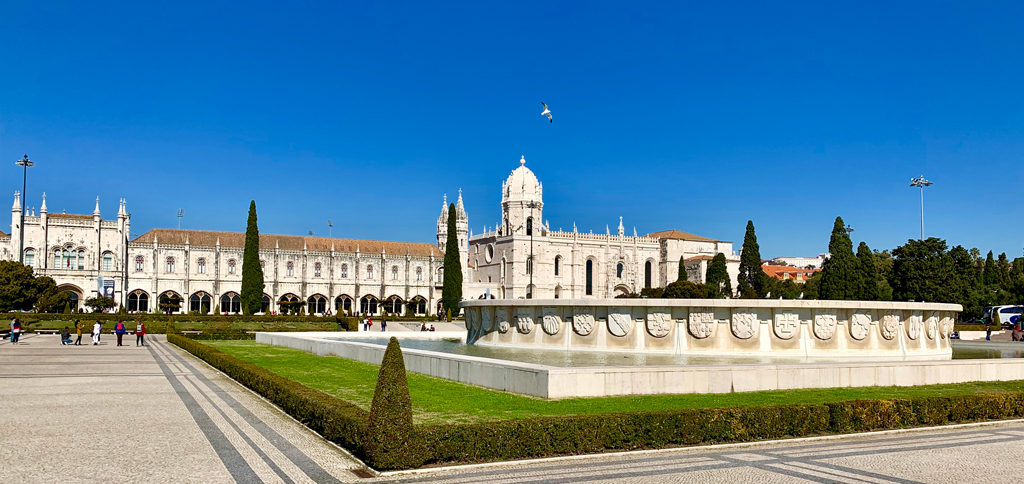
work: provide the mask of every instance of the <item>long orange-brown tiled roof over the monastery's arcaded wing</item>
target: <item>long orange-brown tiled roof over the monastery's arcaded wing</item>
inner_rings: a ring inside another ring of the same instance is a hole
[[[241,249],[245,247],[245,232],[218,232],[212,230],[178,230],[174,228],[155,228],[135,237],[132,243],[167,244],[183,246],[186,241],[196,247],[215,247],[220,240],[220,247]],[[303,247],[309,251],[330,252],[332,245],[335,252],[355,252],[358,250],[368,254],[388,254],[413,256],[443,256],[433,244],[400,243],[389,240],[359,240],[355,238],[328,238],[302,235],[259,235],[260,249],[281,248],[287,251],[301,251]]]

